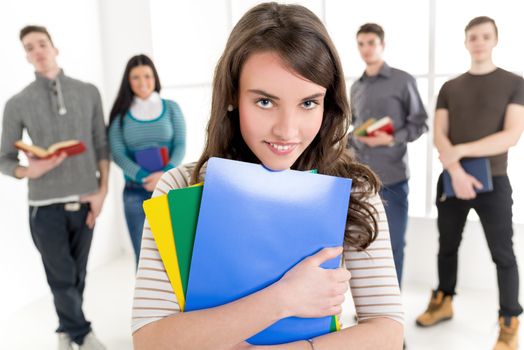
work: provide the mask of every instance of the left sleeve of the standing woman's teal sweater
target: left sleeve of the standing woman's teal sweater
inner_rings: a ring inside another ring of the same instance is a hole
[[[124,175],[141,183],[142,179],[148,176],[149,173],[129,157],[119,118],[117,118],[109,127],[109,143],[111,145],[113,160],[120,168],[122,168]]]

